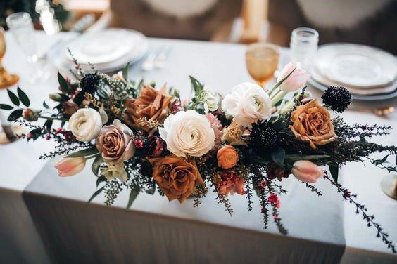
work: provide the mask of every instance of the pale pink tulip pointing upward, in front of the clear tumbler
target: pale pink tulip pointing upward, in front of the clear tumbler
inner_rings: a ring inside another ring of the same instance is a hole
[[[293,70],[294,72],[292,72]],[[279,77],[277,77],[277,81],[281,81],[291,72],[292,74],[279,86],[279,88],[284,92],[293,92],[299,90],[305,85],[306,81],[308,81],[310,77],[308,72],[298,66],[298,62],[293,61],[285,65],[280,72]]]

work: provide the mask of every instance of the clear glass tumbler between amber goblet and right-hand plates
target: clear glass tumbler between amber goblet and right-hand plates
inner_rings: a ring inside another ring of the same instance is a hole
[[[318,47],[318,32],[309,27],[299,27],[291,34],[291,60],[301,62],[301,67],[310,70]]]

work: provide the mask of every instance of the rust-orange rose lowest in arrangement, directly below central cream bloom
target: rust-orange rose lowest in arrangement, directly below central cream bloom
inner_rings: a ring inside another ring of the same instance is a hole
[[[153,166],[153,179],[170,201],[178,199],[182,203],[194,194],[197,185],[204,185],[194,162],[174,155],[149,161]]]

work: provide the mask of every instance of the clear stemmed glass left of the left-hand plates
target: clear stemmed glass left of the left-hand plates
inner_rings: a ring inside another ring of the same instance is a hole
[[[39,62],[37,55],[36,39],[34,37],[34,27],[29,13],[18,12],[8,15],[6,18],[8,28],[13,35],[18,46],[27,57],[31,65],[32,72],[29,73],[30,83],[43,81],[49,77],[46,67]]]

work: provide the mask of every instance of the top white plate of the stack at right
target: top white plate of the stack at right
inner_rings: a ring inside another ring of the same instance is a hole
[[[397,59],[378,48],[327,44],[317,51],[315,68],[329,80],[352,88],[376,88],[397,77]]]

